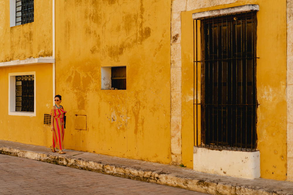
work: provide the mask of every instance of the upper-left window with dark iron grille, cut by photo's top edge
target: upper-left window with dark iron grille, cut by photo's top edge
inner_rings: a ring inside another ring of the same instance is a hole
[[[21,25],[34,21],[34,1],[16,0],[15,24]]]

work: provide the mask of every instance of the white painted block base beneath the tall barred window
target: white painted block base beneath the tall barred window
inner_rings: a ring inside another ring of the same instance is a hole
[[[260,177],[260,152],[211,150],[194,146],[193,170],[216,175]]]

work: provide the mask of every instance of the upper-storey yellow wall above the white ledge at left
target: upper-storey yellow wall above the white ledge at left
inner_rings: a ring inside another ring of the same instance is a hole
[[[9,0],[0,1],[0,62],[52,56],[52,1],[34,1],[34,22],[10,27]]]

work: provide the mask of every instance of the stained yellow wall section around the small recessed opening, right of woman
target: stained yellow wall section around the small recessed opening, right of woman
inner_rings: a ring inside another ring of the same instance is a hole
[[[56,93],[65,147],[170,162],[171,1],[56,1]],[[101,66],[126,66],[127,90],[101,90]],[[87,130],[76,116],[87,115]]]

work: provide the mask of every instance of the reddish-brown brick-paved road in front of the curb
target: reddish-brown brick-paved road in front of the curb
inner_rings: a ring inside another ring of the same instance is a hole
[[[0,194],[196,194],[184,189],[0,154]]]

